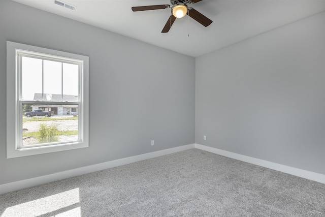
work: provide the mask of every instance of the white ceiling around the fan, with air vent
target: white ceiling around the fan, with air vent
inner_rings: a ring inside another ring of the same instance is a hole
[[[14,1],[193,57],[325,11],[325,0],[203,0],[190,7],[213,20],[211,25],[185,16],[163,34],[170,9],[131,7],[171,5],[169,0],[63,0],[76,6],[74,11],[54,0]]]

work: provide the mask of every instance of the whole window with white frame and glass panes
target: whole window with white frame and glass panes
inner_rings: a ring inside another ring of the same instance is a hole
[[[7,42],[7,158],[88,147],[88,113],[87,56]]]

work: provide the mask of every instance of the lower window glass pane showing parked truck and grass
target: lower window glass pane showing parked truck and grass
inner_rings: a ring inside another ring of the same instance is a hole
[[[78,105],[22,106],[23,146],[78,140]]]

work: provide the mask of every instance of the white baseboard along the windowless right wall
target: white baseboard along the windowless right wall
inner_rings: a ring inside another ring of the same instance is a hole
[[[209,147],[209,146],[205,146],[205,145],[195,144],[195,147],[198,148],[198,149],[202,149],[202,150],[205,150],[205,151],[216,153],[216,154],[219,154],[221,156],[228,157],[228,158],[236,159],[236,160],[247,162],[247,163],[250,163],[250,164],[255,164],[255,165],[258,165],[258,166],[266,167],[266,168],[269,168],[269,169],[277,170],[277,171],[280,171],[280,172],[288,173],[288,174],[291,174],[291,175],[299,176],[299,177],[302,177],[302,178],[310,179],[310,180],[317,181],[317,182],[325,184],[325,175],[324,174],[310,172],[310,171],[298,169],[298,168],[295,168],[295,167],[289,167],[289,166],[285,166],[285,165],[282,165],[282,164],[273,163],[273,162],[270,162],[270,161],[265,161],[265,160],[261,160],[261,159],[257,159],[257,158],[252,158],[252,157],[244,156],[242,154],[238,154],[238,153],[234,153],[234,152],[230,152],[230,151],[225,151],[225,150],[221,150],[221,149],[218,149],[218,148],[213,148],[213,147]]]

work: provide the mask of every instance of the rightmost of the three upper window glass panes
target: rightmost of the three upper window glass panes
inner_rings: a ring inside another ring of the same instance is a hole
[[[63,63],[63,101],[78,102],[79,66]]]

